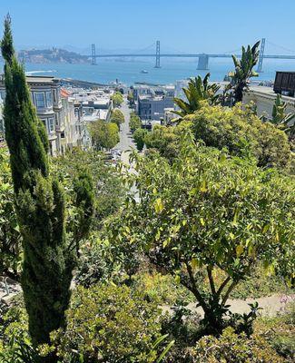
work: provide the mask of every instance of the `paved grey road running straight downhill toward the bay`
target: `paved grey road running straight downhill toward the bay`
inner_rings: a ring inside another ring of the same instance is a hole
[[[121,160],[125,163],[129,163],[129,152],[132,147],[135,148],[132,135],[129,130],[129,121],[131,109],[128,107],[127,99],[124,97],[124,102],[121,106],[121,111],[125,117],[125,122],[121,125],[120,142],[115,146],[115,149],[122,151]]]

